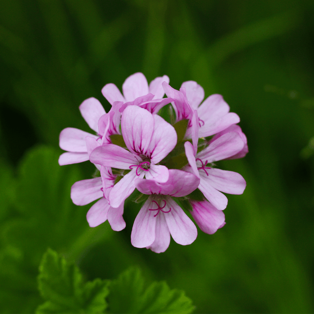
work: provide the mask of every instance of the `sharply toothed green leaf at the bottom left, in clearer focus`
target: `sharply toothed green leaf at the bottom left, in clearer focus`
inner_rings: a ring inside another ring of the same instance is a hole
[[[57,252],[44,254],[38,276],[38,288],[47,301],[36,313],[103,313],[107,307],[108,280],[84,282],[74,263],[68,263]]]

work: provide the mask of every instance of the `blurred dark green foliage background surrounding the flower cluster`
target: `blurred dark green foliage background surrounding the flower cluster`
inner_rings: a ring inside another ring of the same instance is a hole
[[[314,2],[309,0],[1,0],[0,310],[32,313],[47,247],[86,278],[139,265],[185,290],[195,313],[313,313]],[[127,227],[89,228],[70,187],[85,162],[60,167],[60,131],[90,132],[78,106],[135,72],[195,80],[241,117],[249,154],[219,163],[247,181],[226,225],[165,253],[130,243]]]

